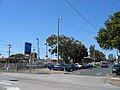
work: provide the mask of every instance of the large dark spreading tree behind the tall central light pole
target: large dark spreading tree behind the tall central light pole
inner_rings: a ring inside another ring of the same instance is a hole
[[[51,54],[57,53],[57,36],[51,35],[46,39],[48,46],[50,46]],[[72,59],[73,62],[81,62],[82,58],[88,55],[85,46],[78,40],[64,35],[59,36],[59,55],[66,62],[69,63]]]

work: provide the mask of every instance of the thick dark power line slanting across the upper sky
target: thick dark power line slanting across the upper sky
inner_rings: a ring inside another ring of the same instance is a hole
[[[69,1],[65,0],[65,2],[66,2],[81,18],[83,18],[92,28],[94,28],[95,30],[98,30],[98,29],[97,29],[93,24],[91,24],[84,16],[82,16],[82,15],[78,12],[78,10],[75,9],[75,8],[73,7],[73,5],[72,5]]]

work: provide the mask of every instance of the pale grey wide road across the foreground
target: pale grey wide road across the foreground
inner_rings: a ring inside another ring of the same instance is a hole
[[[107,83],[106,77],[2,73],[0,78],[0,90],[120,90]]]

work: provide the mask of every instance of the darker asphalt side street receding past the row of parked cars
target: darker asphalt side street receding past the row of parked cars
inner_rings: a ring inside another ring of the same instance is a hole
[[[75,75],[88,75],[88,76],[107,76],[107,74],[111,73],[113,64],[110,64],[108,68],[91,68],[91,69],[81,69],[72,72]]]

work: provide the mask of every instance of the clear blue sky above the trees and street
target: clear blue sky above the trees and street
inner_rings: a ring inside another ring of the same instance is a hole
[[[0,54],[8,57],[8,44],[12,44],[11,54],[24,53],[24,43],[32,43],[37,52],[40,42],[40,57],[45,58],[45,42],[51,34],[57,34],[57,20],[60,34],[81,41],[87,48],[95,44],[95,49],[106,56],[116,50],[105,51],[99,47],[95,36],[104,22],[120,10],[120,0],[67,0],[92,25],[80,17],[65,0],[0,0]],[[32,48],[32,49],[33,49]],[[50,56],[50,55],[49,55]]]

